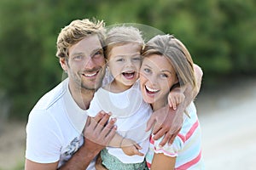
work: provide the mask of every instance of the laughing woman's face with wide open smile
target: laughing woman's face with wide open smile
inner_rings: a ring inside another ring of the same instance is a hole
[[[145,102],[153,107],[165,105],[167,94],[177,82],[176,72],[165,56],[151,54],[143,59],[140,84]]]

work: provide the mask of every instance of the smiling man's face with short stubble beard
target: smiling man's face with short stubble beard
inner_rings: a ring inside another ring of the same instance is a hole
[[[102,86],[106,65],[102,44],[96,35],[84,37],[69,48],[66,64],[70,86],[81,90]]]

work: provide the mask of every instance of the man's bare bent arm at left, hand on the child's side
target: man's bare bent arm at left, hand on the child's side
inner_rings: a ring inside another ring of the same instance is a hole
[[[109,141],[115,134],[114,120],[108,122],[109,115],[100,112],[95,118],[88,117],[84,127],[84,144],[79,150],[59,169],[76,169],[84,170],[89,166],[95,156],[108,145]],[[104,125],[108,124],[104,127]],[[26,160],[26,170],[56,170],[58,161],[54,163],[37,163]]]

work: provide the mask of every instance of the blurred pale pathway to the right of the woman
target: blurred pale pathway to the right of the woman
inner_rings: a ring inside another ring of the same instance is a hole
[[[256,79],[198,96],[207,170],[256,169]]]

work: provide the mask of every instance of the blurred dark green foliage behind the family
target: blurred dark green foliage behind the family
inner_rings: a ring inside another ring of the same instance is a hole
[[[61,81],[56,37],[71,20],[96,18],[107,26],[139,23],[174,34],[204,71],[218,77],[255,75],[256,2],[253,0],[2,0],[0,93],[11,116],[26,117]]]

